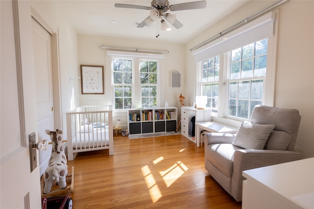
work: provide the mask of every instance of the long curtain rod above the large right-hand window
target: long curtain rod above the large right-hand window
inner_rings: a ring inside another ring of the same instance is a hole
[[[282,3],[286,2],[286,1],[288,1],[288,0],[279,0],[279,1],[277,1],[277,2],[275,2],[275,3],[273,3],[273,4],[271,4],[270,6],[268,6],[268,7],[266,7],[265,9],[259,11],[258,13],[254,14],[254,15],[248,17],[248,18],[245,18],[244,20],[242,20],[241,22],[235,24],[234,26],[231,26],[231,27],[229,27],[228,29],[219,32],[217,35],[214,35],[213,37],[209,38],[208,40],[204,41],[203,43],[201,43],[201,44],[199,44],[199,45],[193,47],[192,49],[190,49],[190,51],[193,52],[194,50],[197,50],[197,49],[199,49],[199,48],[205,46],[206,44],[208,44],[208,43],[210,43],[211,41],[213,41],[215,38],[217,38],[217,37],[219,37],[219,36],[222,36],[223,34],[225,34],[225,33],[227,33],[227,32],[231,32],[231,31],[229,31],[229,30],[232,30],[232,29],[234,29],[235,27],[242,25],[243,23],[247,23],[247,22],[248,22],[249,20],[251,20],[252,18],[255,18],[256,16],[258,16],[258,15],[260,15],[260,14],[262,14],[262,13],[264,13],[264,12],[270,10],[270,9],[272,9],[273,7],[277,6],[277,4],[280,5],[280,4],[282,4]]]

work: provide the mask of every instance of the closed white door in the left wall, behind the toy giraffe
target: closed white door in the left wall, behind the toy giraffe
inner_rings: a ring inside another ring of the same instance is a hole
[[[53,95],[52,95],[52,51],[51,35],[47,30],[32,19],[35,88],[37,104],[38,141],[50,137],[45,130],[53,130]],[[42,175],[51,156],[52,146],[48,150],[39,150],[39,167]]]

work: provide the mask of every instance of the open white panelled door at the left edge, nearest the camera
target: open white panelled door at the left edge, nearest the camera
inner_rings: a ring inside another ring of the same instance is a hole
[[[36,131],[30,17],[20,3],[0,0],[0,208],[40,209],[39,169],[30,170],[28,145]]]

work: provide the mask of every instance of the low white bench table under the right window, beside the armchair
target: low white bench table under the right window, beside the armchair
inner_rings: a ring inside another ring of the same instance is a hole
[[[196,146],[200,146],[200,140],[201,140],[201,131],[206,130],[214,133],[236,133],[238,128],[233,126],[227,126],[222,123],[210,121],[210,122],[201,122],[201,123],[195,123],[195,141]]]

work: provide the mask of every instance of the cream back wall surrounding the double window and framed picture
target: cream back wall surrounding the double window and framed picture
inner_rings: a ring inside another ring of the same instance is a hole
[[[181,76],[184,75],[184,45],[171,44],[162,42],[149,42],[134,39],[120,39],[105,36],[92,36],[78,34],[78,69],[79,65],[102,65],[105,71],[105,94],[104,95],[80,95],[80,105],[99,105],[99,104],[112,104],[112,88],[111,88],[111,69],[110,58],[106,57],[106,50],[101,49],[101,45],[108,47],[123,47],[123,48],[137,48],[137,49],[152,49],[152,50],[166,50],[169,51],[165,54],[163,65],[164,78],[158,80],[158,85],[163,85],[161,93],[160,106],[164,106],[165,101],[168,101],[169,106],[180,108],[178,96],[183,92],[185,83],[184,77],[181,78],[180,88],[170,87],[170,74],[173,71],[178,71]],[[119,112],[113,114],[113,124],[115,125],[116,119],[121,120],[123,129],[127,127],[127,112]],[[180,119],[180,116],[179,116]]]

